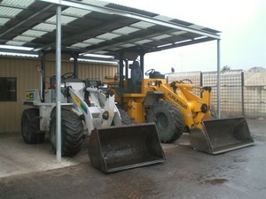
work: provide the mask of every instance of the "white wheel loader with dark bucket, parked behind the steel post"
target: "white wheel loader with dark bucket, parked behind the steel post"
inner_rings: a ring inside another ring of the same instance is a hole
[[[72,73],[62,76],[60,87],[62,156],[77,154],[88,135],[91,165],[103,172],[165,160],[154,124],[130,125],[131,119],[118,110],[109,89],[104,92],[97,87],[97,81],[75,79]],[[56,150],[54,88],[55,77],[43,95],[38,89],[26,90],[23,104],[31,108],[22,113],[21,133],[24,142],[35,144],[43,142],[49,132],[51,146]]]

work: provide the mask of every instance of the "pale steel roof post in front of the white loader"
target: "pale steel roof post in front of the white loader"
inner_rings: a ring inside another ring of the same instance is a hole
[[[57,161],[61,163],[61,6],[57,7],[56,76],[57,76]]]

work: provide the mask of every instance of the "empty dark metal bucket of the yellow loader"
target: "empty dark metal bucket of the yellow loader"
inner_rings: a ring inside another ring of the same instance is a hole
[[[190,142],[194,149],[209,154],[254,145],[246,119],[243,117],[203,121],[192,129]]]

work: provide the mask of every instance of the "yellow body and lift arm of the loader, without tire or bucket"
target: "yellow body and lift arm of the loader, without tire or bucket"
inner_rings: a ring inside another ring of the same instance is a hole
[[[172,85],[172,86],[171,86]],[[176,87],[176,92],[173,90]],[[124,81],[124,87],[127,87],[127,80]],[[202,97],[192,93],[192,89],[200,89]],[[210,114],[210,88],[193,87],[192,84],[184,84],[173,82],[168,84],[165,79],[144,79],[142,83],[141,93],[125,93],[122,95],[123,102],[129,116],[136,123],[144,123],[146,116],[145,99],[149,94],[151,97],[158,96],[156,100],[166,100],[176,104],[184,113],[185,126],[189,129],[195,123],[199,123],[203,119],[211,119]],[[157,91],[161,92],[156,93]],[[113,89],[116,101],[121,103],[121,95]],[[163,94],[162,94],[163,93]],[[154,94],[154,95],[153,95]],[[204,107],[204,108],[202,108]],[[201,109],[205,109],[203,112]]]

